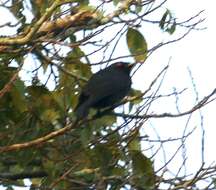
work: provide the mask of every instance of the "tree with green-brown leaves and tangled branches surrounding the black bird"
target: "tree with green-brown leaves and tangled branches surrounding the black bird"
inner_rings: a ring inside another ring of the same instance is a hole
[[[132,89],[115,111],[106,108],[98,113],[92,109],[88,118],[80,121],[74,114],[79,93],[92,70],[130,60],[136,63],[134,75],[157,49],[200,29],[202,11],[181,21],[166,9],[166,2],[0,2],[0,11],[12,18],[0,26],[3,187],[25,187],[24,179],[29,179],[29,189],[177,190],[199,189],[202,182],[204,189],[216,188],[216,167],[205,166],[204,160],[200,170],[191,176],[182,175],[181,169],[174,177],[169,175],[167,165],[175,154],[161,168],[154,166],[156,159],[162,159],[157,153],[163,150],[163,143],[179,141],[178,152],[193,131],[179,139],[158,137],[157,142],[142,131],[148,120],[190,118],[214,100],[216,89],[183,112],[151,112],[158,100],[166,102],[166,98],[178,98],[185,91],[160,93],[167,65],[144,91]],[[150,46],[142,29],[146,23],[172,38]],[[176,34],[178,29],[184,30]],[[155,142],[159,148],[149,154]]]

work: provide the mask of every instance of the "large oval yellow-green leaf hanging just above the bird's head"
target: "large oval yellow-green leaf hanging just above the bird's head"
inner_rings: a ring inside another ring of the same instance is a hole
[[[127,31],[127,45],[136,62],[144,62],[147,58],[147,43],[144,36],[136,29]]]

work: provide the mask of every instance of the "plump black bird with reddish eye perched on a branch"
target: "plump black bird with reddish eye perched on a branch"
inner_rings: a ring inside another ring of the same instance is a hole
[[[75,108],[77,119],[86,117],[90,108],[109,107],[123,99],[131,89],[133,65],[117,62],[93,74],[79,96]]]

